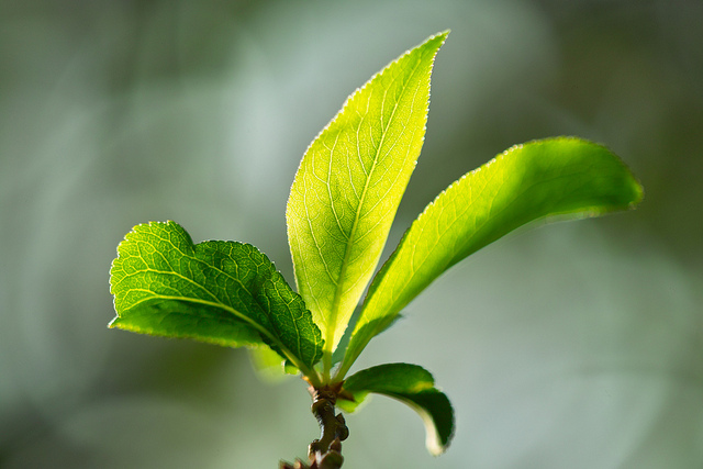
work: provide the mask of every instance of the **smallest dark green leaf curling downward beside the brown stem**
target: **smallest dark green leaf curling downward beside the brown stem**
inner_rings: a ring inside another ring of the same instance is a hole
[[[425,423],[426,445],[437,456],[454,436],[454,410],[444,392],[435,388],[429,371],[417,365],[386,364],[361,370],[344,382],[343,391],[354,397],[337,400],[337,406],[353,412],[370,393],[383,394],[410,405]]]

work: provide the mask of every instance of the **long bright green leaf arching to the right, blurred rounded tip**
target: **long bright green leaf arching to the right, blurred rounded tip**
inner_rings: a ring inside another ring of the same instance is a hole
[[[432,202],[373,279],[339,376],[446,269],[516,227],[633,208],[641,186],[607,148],[572,137],[514,146]]]

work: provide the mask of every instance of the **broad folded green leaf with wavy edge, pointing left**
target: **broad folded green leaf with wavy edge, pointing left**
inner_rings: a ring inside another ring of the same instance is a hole
[[[322,356],[302,299],[252,245],[193,245],[177,223],[141,224],[120,243],[110,275],[110,327],[231,347],[265,343],[303,372]]]

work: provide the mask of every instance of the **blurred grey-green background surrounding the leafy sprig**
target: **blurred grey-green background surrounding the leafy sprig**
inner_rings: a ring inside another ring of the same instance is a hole
[[[275,468],[317,435],[244,350],[109,331],[115,247],[146,221],[264,250],[344,99],[450,27],[389,239],[524,141],[610,146],[634,212],[521,231],[455,267],[355,367],[451,399],[433,458],[376,397],[345,468],[703,467],[703,3],[0,0],[0,467]]]

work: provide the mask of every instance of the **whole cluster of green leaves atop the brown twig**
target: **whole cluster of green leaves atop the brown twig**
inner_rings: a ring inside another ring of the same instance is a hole
[[[359,354],[437,277],[516,227],[625,210],[643,197],[601,145],[576,137],[517,145],[437,196],[377,271],[422,149],[432,68],[447,35],[373,76],[305,152],[286,211],[297,292],[249,244],[193,244],[177,223],[152,222],[118,248],[110,326],[277,357],[313,389],[337,387],[347,412],[369,393],[391,397],[419,412],[428,449],[442,453],[454,413],[432,375],[387,364],[347,376]]]

